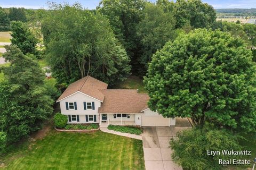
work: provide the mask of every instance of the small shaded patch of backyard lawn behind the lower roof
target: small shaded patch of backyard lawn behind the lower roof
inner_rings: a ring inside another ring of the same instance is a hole
[[[114,86],[114,89],[139,89],[139,92],[146,92],[144,89],[143,79],[131,75],[125,81],[119,82]]]

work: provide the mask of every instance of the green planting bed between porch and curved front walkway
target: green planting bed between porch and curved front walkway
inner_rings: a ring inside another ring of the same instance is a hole
[[[142,128],[135,127],[135,126],[120,126],[120,125],[108,125],[109,130],[114,130],[117,132],[123,132],[123,133],[131,133],[131,134],[137,134],[140,135],[143,131]]]

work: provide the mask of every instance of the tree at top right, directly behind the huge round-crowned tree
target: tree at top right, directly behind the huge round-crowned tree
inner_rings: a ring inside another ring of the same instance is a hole
[[[201,0],[177,0],[173,13],[176,28],[182,28],[186,23],[194,28],[210,27],[217,18],[214,8]]]

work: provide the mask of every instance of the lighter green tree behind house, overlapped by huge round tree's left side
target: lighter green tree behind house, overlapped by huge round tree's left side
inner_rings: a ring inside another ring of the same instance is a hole
[[[162,4],[147,3],[143,11],[145,18],[138,24],[137,34],[142,43],[142,55],[139,62],[143,65],[140,73],[145,75],[148,63],[157,49],[161,49],[169,40],[176,37],[175,20],[170,11],[165,12]]]

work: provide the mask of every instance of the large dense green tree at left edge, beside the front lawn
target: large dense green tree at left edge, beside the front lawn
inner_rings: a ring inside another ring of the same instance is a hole
[[[33,55],[24,55],[17,46],[6,46],[0,84],[0,131],[7,142],[16,142],[41,128],[51,115],[53,100],[44,88],[45,75]]]

